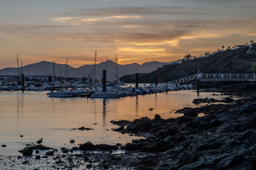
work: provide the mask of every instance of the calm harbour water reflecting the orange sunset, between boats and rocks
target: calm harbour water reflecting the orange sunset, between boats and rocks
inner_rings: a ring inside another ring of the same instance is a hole
[[[193,90],[120,99],[50,98],[46,94],[45,91],[0,92],[0,145],[7,145],[0,147],[0,155],[20,155],[17,150],[40,138],[44,138],[44,145],[53,148],[73,146],[70,139],[75,139],[75,145],[86,141],[125,144],[136,137],[111,131],[117,127],[111,120],[153,118],[156,113],[163,118],[175,118],[182,116],[175,110],[194,107],[191,102],[196,97],[221,98],[207,92],[197,96]],[[83,126],[93,130],[70,131]]]

